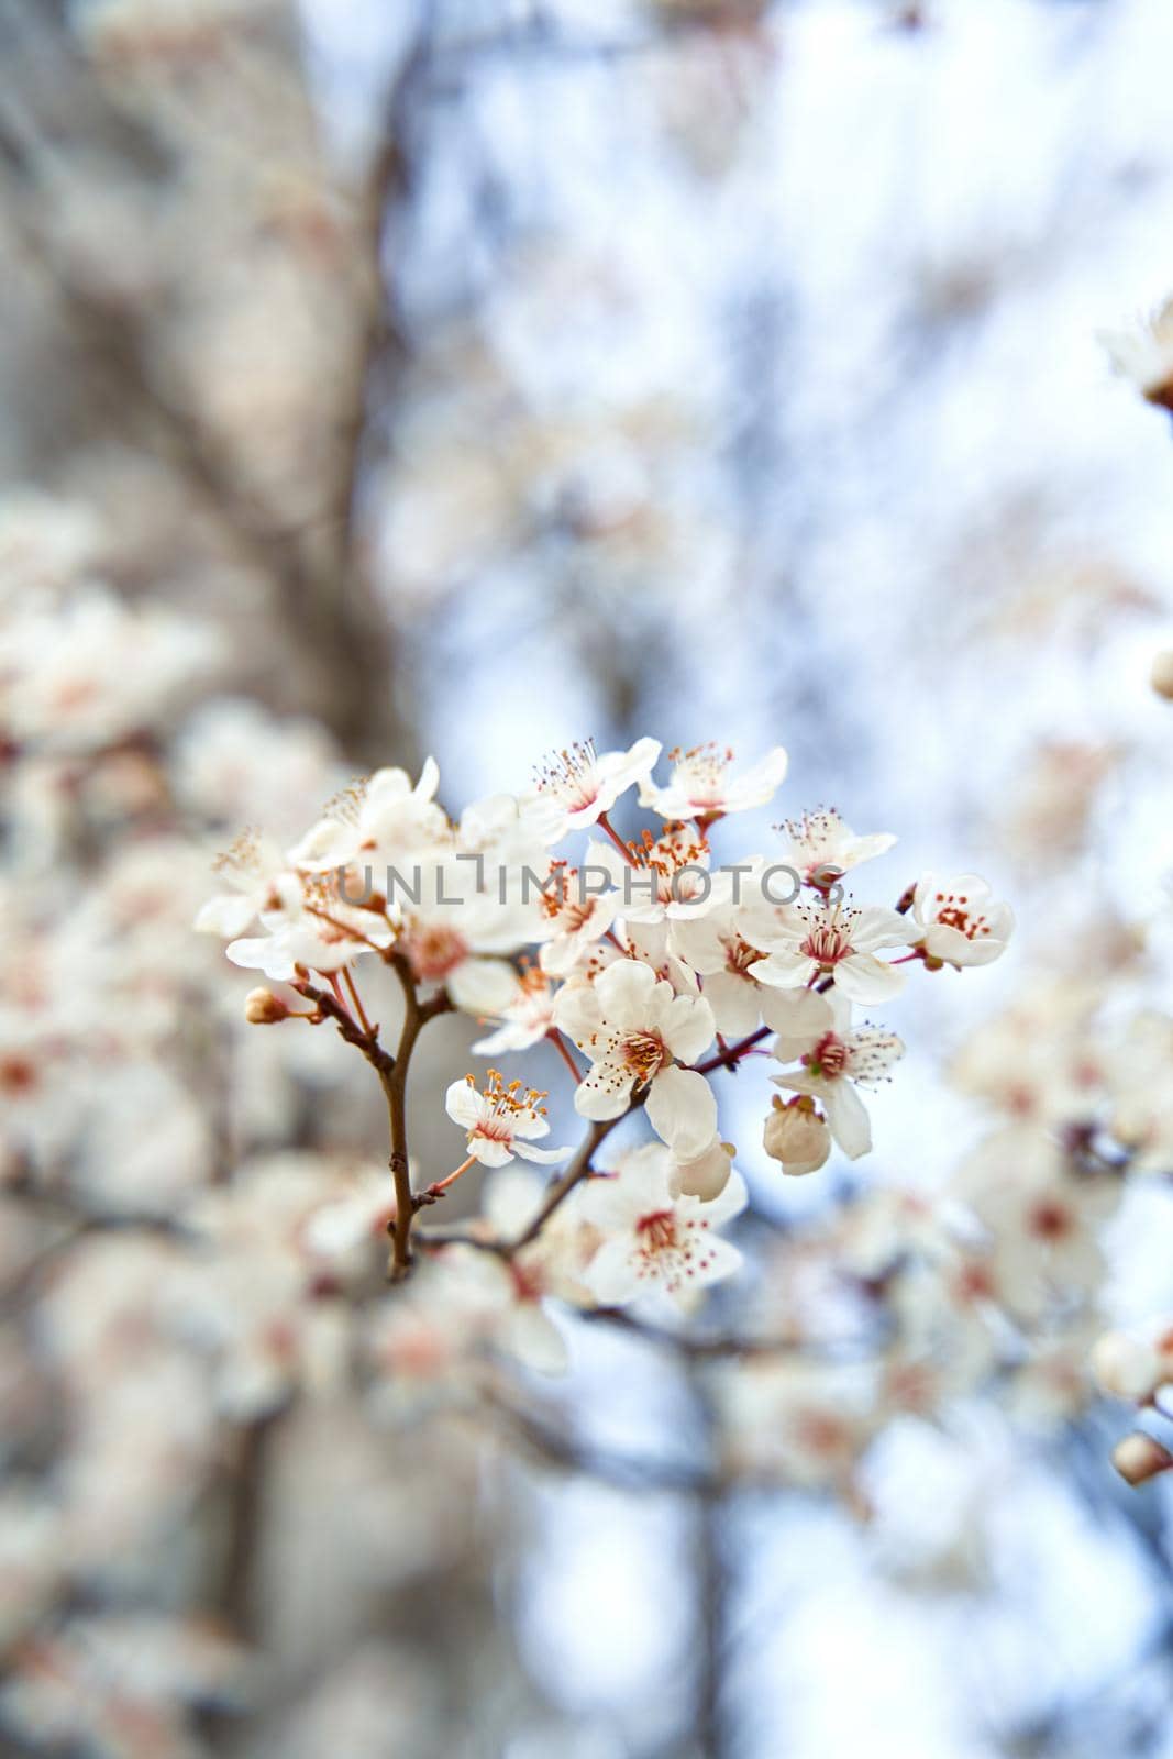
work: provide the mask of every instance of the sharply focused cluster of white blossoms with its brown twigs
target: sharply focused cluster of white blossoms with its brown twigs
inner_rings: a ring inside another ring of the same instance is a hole
[[[814,1171],[832,1145],[858,1159],[872,1140],[863,1094],[892,1077],[902,1043],[856,1010],[890,1003],[913,966],[962,969],[1004,950],[1011,911],[973,874],[925,874],[895,906],[856,902],[844,881],[895,839],[856,836],[835,811],[779,827],[776,858],[714,862],[712,827],[772,800],[781,748],[744,770],[723,748],[675,749],[663,783],[659,760],[654,739],[605,755],[577,744],[529,792],[478,800],[459,820],[440,806],[433,760],[419,781],[385,769],[292,848],[250,834],[225,857],[230,890],[197,927],[225,936],[237,966],[288,985],[253,990],[248,1018],[329,1018],[387,1087],[397,1272],[412,1261],[415,1212],[477,1163],[563,1163],[519,1235],[536,1240],[557,1208],[559,1249],[543,1240],[542,1275],[515,1275],[515,1300],[570,1282],[605,1307],[649,1291],[689,1305],[739,1265],[718,1233],[746,1205],[718,1120],[725,1073],[772,1054],[779,1091],[763,1145],[784,1173]],[[658,823],[624,841],[612,813],[633,790]],[[579,846],[566,850],[570,837]],[[371,966],[392,966],[404,990],[397,1057],[361,997]],[[487,1024],[477,1048],[494,1059],[554,1043],[559,1110],[589,1126],[579,1147],[549,1145],[545,1091],[491,1068],[447,1091],[461,1164],[412,1186],[406,1057],[419,1025],[447,1008]],[[652,1140],[596,1170],[601,1142],[631,1113]],[[517,1242],[496,1245],[517,1270]]]

